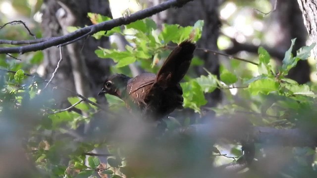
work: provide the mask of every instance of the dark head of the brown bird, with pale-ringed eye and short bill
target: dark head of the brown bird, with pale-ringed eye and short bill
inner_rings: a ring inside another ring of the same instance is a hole
[[[117,97],[122,96],[127,88],[128,80],[130,77],[123,74],[114,74],[106,79],[104,82],[103,89],[98,93],[98,95],[108,93]]]

